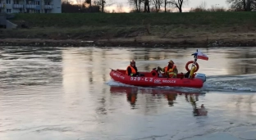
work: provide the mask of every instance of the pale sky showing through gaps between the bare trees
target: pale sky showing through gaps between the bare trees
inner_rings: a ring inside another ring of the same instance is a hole
[[[128,0],[107,0],[107,1],[112,1],[113,3],[121,3],[123,5],[124,11],[128,11],[129,4]],[[211,7],[212,5],[217,5],[220,7],[228,7],[226,0],[190,0],[188,4],[186,4],[183,9],[184,11],[187,9],[189,10],[191,7],[197,7],[200,5],[200,3],[206,2],[207,7]],[[108,7],[108,10],[115,9],[115,5],[112,5],[112,7]]]

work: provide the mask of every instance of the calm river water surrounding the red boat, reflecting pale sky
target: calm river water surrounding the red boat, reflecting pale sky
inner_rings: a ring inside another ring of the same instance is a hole
[[[185,72],[195,48],[1,47],[0,139],[256,139],[256,47],[200,50],[194,89],[118,84],[109,68]]]

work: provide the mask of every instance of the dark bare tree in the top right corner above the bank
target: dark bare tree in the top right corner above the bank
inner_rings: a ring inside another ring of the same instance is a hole
[[[256,0],[226,0],[235,11],[252,11],[256,9]]]

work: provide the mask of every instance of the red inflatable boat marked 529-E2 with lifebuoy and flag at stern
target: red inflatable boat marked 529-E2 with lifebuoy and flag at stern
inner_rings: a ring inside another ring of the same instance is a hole
[[[139,74],[144,75],[139,77],[131,77],[129,75],[126,75],[126,70],[111,69],[110,76],[112,77],[112,79],[122,84],[129,84],[141,87],[169,86],[202,88],[203,83],[206,81],[206,76],[204,74],[195,73],[199,70],[199,64],[196,61],[197,59],[208,60],[208,56],[198,51],[192,55],[194,55],[194,61],[188,61],[185,65],[186,70],[190,71],[188,69],[188,65],[193,64],[191,68],[192,72],[190,73],[190,78],[185,78],[183,73],[179,73],[176,78],[165,78],[164,74],[162,74],[162,77],[159,77],[159,72],[155,68],[150,72],[139,72]]]

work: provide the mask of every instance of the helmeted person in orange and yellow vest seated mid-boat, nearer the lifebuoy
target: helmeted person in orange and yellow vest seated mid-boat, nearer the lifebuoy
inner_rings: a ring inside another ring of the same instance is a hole
[[[166,77],[169,77],[169,78],[176,78],[176,75],[178,74],[178,69],[176,68],[176,65],[174,65],[173,61],[169,61],[168,65],[163,69],[158,66],[158,70],[161,70],[162,72],[164,72]]]

